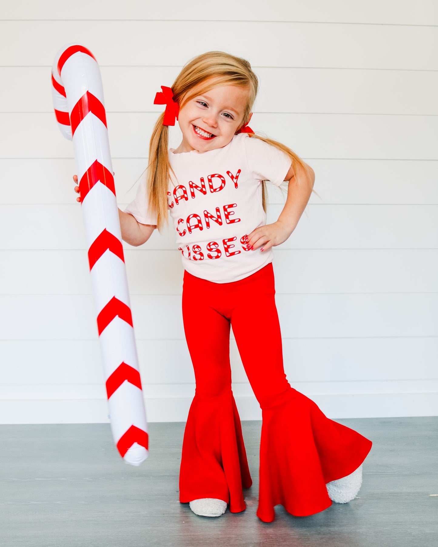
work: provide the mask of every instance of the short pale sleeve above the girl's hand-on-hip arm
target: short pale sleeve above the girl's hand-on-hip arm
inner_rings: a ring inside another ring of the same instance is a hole
[[[257,137],[246,136],[244,146],[252,176],[257,181],[270,181],[279,186],[292,165],[289,156]]]

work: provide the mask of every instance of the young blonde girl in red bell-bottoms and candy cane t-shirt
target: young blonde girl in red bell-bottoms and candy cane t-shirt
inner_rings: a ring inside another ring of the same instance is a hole
[[[286,380],[275,306],[272,247],[307,205],[314,172],[292,150],[247,125],[258,81],[250,63],[222,51],[183,67],[155,103],[149,164],[136,197],[119,210],[123,240],[145,243],[168,222],[185,268],[182,316],[196,389],[183,438],[180,502],[197,515],[246,507],[252,484],[231,389],[230,327],[262,409],[257,516],[274,506],[312,515],[358,493],[371,441],[328,419]],[[182,142],[168,149],[178,120]],[[278,220],[266,224],[265,182],[289,181]],[[75,188],[79,190],[78,187]],[[77,198],[80,201],[80,197]]]

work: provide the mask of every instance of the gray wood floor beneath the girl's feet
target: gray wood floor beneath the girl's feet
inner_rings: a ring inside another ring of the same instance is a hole
[[[359,498],[316,515],[256,516],[261,422],[242,422],[247,509],[200,517],[178,502],[184,423],[149,424],[150,454],[122,461],[109,424],[0,426],[2,547],[436,547],[438,417],[338,420],[374,443]]]

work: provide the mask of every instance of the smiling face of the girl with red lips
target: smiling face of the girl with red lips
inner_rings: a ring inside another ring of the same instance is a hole
[[[222,85],[189,100],[178,115],[182,142],[175,153],[226,146],[242,123],[247,97],[245,88]]]

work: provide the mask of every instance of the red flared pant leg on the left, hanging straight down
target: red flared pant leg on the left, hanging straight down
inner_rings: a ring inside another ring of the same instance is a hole
[[[239,513],[246,508],[242,488],[252,480],[231,389],[230,322],[217,310],[216,285],[185,272],[183,324],[196,389],[182,445],[180,502],[222,499]]]

